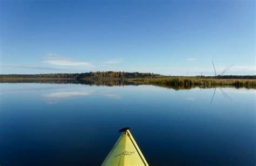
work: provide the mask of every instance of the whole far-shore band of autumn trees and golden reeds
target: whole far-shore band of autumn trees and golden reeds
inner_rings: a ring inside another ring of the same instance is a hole
[[[156,85],[172,89],[233,87],[256,89],[256,75],[164,76],[153,73],[90,72],[77,74],[0,75],[0,83],[77,83],[90,85]]]

